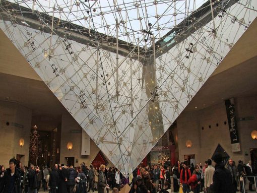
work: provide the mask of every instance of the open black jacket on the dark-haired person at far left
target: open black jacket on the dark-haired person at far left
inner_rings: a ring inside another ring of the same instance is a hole
[[[13,187],[14,193],[21,193],[21,170],[15,168],[15,183]],[[11,169],[8,168],[4,174],[3,179],[0,183],[0,192],[1,193],[8,193],[8,187],[10,187],[11,183]]]

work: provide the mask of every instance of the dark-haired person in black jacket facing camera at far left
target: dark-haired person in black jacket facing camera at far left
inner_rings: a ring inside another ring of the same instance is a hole
[[[1,193],[21,193],[21,171],[16,168],[16,165],[16,159],[10,159],[10,167],[5,171],[0,182]]]

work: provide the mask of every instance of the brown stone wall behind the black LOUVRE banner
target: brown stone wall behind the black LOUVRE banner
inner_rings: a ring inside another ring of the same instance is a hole
[[[179,159],[183,161],[184,155],[195,154],[196,163],[203,163],[212,157],[220,144],[236,164],[238,160],[244,162],[250,160],[250,149],[257,148],[257,141],[252,140],[250,136],[257,125],[257,97],[236,98],[235,110],[237,119],[254,118],[237,121],[241,152],[232,152],[224,102],[202,110],[184,111],[179,115],[177,118]],[[187,140],[191,140],[191,148],[185,146]]]

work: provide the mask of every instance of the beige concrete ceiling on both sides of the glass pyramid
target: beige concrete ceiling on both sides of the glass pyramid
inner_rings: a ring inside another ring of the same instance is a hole
[[[231,97],[257,96],[256,31],[255,19],[185,111],[206,108]],[[0,100],[19,103],[32,109],[33,116],[52,122],[68,113],[2,30],[0,50]]]

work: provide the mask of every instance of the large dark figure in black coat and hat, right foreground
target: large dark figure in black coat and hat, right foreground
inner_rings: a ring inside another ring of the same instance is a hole
[[[232,182],[232,176],[222,161],[222,155],[216,153],[213,156],[215,171],[213,174],[212,189],[214,193],[236,193]],[[208,168],[207,168],[208,169]]]

